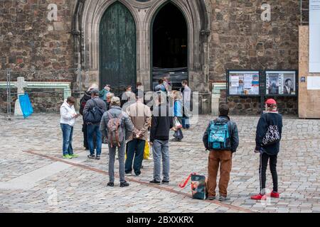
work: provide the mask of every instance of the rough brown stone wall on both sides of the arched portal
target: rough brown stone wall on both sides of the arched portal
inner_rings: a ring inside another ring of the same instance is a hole
[[[74,71],[57,71],[76,67],[73,35],[70,33],[75,2],[0,1],[0,81],[6,80],[6,74],[1,70],[10,67],[14,71],[46,70],[14,74],[13,80],[18,75],[24,76],[26,80],[63,79],[73,82],[73,88],[78,87]],[[272,7],[270,22],[260,18],[262,3],[257,0],[206,0],[210,10],[210,35],[208,65],[204,65],[203,69],[208,70],[205,73],[208,78],[204,78],[204,82],[208,82],[209,87],[213,82],[225,81],[227,69],[298,69],[299,1],[268,1]],[[58,7],[56,21],[48,19],[49,4]],[[86,75],[82,78],[87,80],[83,81],[84,84],[94,81]],[[0,89],[0,92],[2,94],[5,90]],[[223,95],[222,102],[225,101]],[[45,99],[50,97],[43,97]],[[297,112],[297,99],[279,100],[280,105],[286,107],[287,113]],[[0,103],[2,106],[5,101]],[[52,106],[46,109],[53,110],[55,105],[60,104],[59,101],[50,103]],[[260,106],[256,99],[247,99],[245,102],[237,98],[230,99],[234,114],[248,114],[248,111],[242,111],[247,109],[245,104],[250,105],[248,109],[251,114],[257,113],[256,106]],[[40,111],[40,108],[37,109]]]

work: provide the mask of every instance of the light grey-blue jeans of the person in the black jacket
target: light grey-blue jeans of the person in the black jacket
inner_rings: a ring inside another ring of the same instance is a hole
[[[164,181],[169,181],[170,159],[169,159],[169,140],[154,140],[152,146],[154,155],[154,179],[161,181],[161,157],[162,157],[162,175]]]

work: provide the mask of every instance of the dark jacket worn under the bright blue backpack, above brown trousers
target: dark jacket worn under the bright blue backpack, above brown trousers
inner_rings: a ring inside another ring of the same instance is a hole
[[[233,121],[230,121],[230,118],[228,116],[219,116],[217,119],[215,119],[215,122],[220,123],[229,123],[229,134],[230,134],[230,140],[231,140],[231,152],[235,153],[235,151],[238,148],[239,145],[239,135],[238,135],[238,127],[237,124]],[[203,135],[203,145],[205,146],[206,150],[209,150],[208,145],[208,132],[210,128],[210,123],[206,129],[206,132]]]

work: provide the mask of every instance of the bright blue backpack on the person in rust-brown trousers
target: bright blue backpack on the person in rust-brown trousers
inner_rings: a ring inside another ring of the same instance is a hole
[[[208,145],[210,150],[231,150],[229,122],[210,121]]]

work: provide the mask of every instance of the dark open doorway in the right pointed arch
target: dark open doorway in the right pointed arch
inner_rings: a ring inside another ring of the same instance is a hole
[[[164,4],[151,23],[152,89],[161,77],[170,77],[172,89],[188,80],[188,26],[180,9]]]

